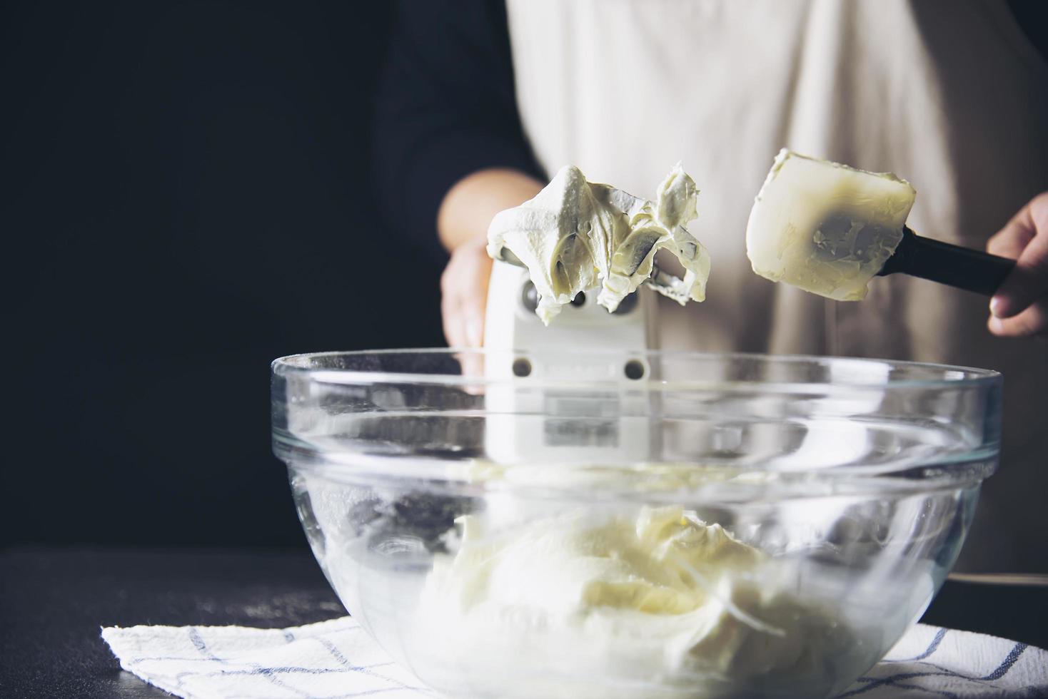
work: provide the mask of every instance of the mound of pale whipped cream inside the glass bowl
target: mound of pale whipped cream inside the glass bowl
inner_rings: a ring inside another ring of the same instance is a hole
[[[416,637],[441,649],[443,691],[744,697],[771,682],[782,696],[826,696],[875,659],[777,585],[766,554],[679,506],[458,522],[457,553],[436,557],[416,610]],[[506,657],[520,673],[478,674]]]

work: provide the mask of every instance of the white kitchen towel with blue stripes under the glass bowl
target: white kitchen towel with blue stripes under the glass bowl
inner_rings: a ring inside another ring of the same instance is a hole
[[[185,699],[435,697],[352,618],[290,629],[105,628],[121,667]],[[844,697],[1045,697],[1048,652],[917,625]]]

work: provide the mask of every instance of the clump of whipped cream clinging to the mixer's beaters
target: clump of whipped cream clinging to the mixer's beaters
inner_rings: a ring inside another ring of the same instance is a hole
[[[681,305],[701,301],[709,253],[684,228],[695,219],[697,196],[679,164],[654,202],[588,182],[566,165],[533,199],[495,217],[487,252],[501,258],[508,249],[528,268],[540,296],[536,313],[546,324],[581,291],[599,288],[597,302],[614,311],[652,275],[655,253],[663,248],[685,273],[655,289]]]

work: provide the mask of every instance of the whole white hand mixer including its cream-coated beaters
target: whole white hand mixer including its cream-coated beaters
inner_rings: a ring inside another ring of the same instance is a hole
[[[565,447],[577,447],[594,463],[650,457],[650,397],[630,390],[631,382],[657,371],[646,358],[656,344],[655,299],[640,287],[680,302],[704,297],[708,254],[682,225],[695,218],[696,195],[679,165],[656,202],[587,182],[568,166],[530,202],[496,217],[484,346],[507,352],[488,355],[484,373],[517,380],[487,392],[489,454],[550,463],[563,458]],[[684,265],[683,278],[655,266],[662,248]],[[624,352],[636,355],[624,359]],[[615,381],[621,390],[592,400],[575,391],[569,401],[544,380]],[[580,400],[585,409],[573,410],[569,403]]]

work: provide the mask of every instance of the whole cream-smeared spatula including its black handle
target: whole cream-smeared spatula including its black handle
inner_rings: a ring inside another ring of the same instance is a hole
[[[915,197],[891,173],[783,149],[749,212],[746,255],[765,278],[842,301],[895,272],[994,295],[1014,261],[915,234]]]

